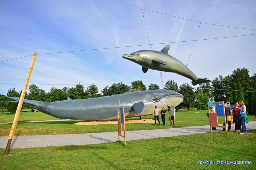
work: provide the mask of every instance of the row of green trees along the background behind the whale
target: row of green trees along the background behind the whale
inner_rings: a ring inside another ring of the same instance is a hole
[[[133,81],[131,84],[131,86],[128,86],[119,82],[112,84],[112,86],[105,86],[101,93],[99,93],[95,84],[91,84],[86,88],[86,90],[80,83],[73,88],[65,86],[62,89],[58,89],[52,87],[48,93],[46,93],[45,90],[40,89],[35,84],[32,84],[28,88],[29,92],[26,94],[25,99],[61,101],[66,100],[67,97],[71,99],[87,99],[146,90],[146,86],[141,80]],[[178,86],[174,80],[168,80],[163,88],[182,94],[184,96],[184,100],[179,106],[186,107],[188,110],[191,106],[197,106],[197,109],[199,110],[207,109],[208,97],[214,96],[214,101],[230,101],[231,103],[235,103],[236,101],[243,100],[247,106],[247,111],[251,114],[254,113],[253,106],[256,104],[256,73],[250,77],[249,71],[246,68],[236,69],[231,75],[220,75],[212,82],[199,84],[199,87],[196,89],[191,87],[188,83]],[[156,89],[159,89],[159,86],[156,84],[150,84],[150,86],[148,86],[148,90]],[[20,94],[21,91],[17,92],[15,88],[10,89],[7,93],[10,97],[20,96]],[[0,101],[8,101],[8,99],[1,96]],[[0,102],[0,105],[1,107],[8,107],[7,105],[11,105],[10,103],[7,103]],[[5,104],[6,106],[4,106]],[[32,109],[28,105],[24,105],[24,108]]]

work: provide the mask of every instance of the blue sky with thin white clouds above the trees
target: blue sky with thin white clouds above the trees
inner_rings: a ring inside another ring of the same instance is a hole
[[[0,1],[0,60],[27,56],[37,52],[29,84],[49,92],[50,88],[123,82],[130,85],[142,80],[145,85],[162,88],[160,71],[143,73],[141,66],[122,58],[123,54],[147,49],[134,46],[255,34],[256,1]],[[199,22],[243,27],[238,29]],[[195,42],[170,43],[169,54],[186,65],[199,78],[213,80],[230,75],[237,68],[256,72],[256,36],[243,36]],[[193,47],[194,44],[194,47]],[[166,44],[152,45],[162,50]],[[193,50],[192,50],[193,47]],[[192,50],[192,53],[191,53]],[[23,88],[32,56],[0,63],[0,93]],[[174,80],[178,85],[191,80],[176,73],[162,72],[164,84]],[[61,84],[61,85],[58,85]],[[197,87],[197,86],[193,86]],[[28,90],[27,90],[28,92]]]

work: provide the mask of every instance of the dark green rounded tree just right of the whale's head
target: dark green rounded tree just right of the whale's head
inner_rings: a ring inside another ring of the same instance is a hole
[[[188,83],[181,84],[179,86],[178,93],[183,95],[183,102],[180,104],[180,106],[185,106],[187,107],[187,110],[190,110],[190,106],[195,105],[195,99],[196,99],[196,94],[193,91],[193,88],[189,86]]]

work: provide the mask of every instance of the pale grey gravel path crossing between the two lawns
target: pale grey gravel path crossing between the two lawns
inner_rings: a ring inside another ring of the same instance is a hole
[[[162,126],[162,125],[156,125]],[[223,125],[220,125],[223,126]],[[246,125],[247,129],[256,129],[256,121],[249,122]],[[220,131],[222,128],[217,128],[215,131]],[[234,129],[232,124],[231,130]],[[171,129],[154,129],[154,130],[137,130],[126,131],[127,141],[138,139],[151,139],[157,137],[171,137],[178,135],[190,135],[197,133],[209,132],[209,125],[191,126],[183,128]],[[120,137],[123,140],[122,137]],[[0,137],[0,148],[5,148],[7,145],[8,136]],[[105,133],[87,133],[87,134],[70,134],[70,135],[38,135],[38,136],[14,136],[10,148],[30,148],[44,146],[62,146],[62,145],[88,145],[96,143],[107,143],[117,141],[116,132]],[[129,143],[128,143],[129,145]]]

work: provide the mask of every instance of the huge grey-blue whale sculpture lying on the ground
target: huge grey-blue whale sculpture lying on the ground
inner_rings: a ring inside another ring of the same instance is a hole
[[[19,101],[19,97],[8,97]],[[177,106],[183,101],[183,95],[172,90],[146,90],[130,92],[105,97],[96,97],[82,100],[44,102],[24,99],[24,103],[61,119],[108,121],[117,120],[117,105],[125,106],[125,117],[137,117],[153,114],[155,106],[160,108],[166,105]]]

